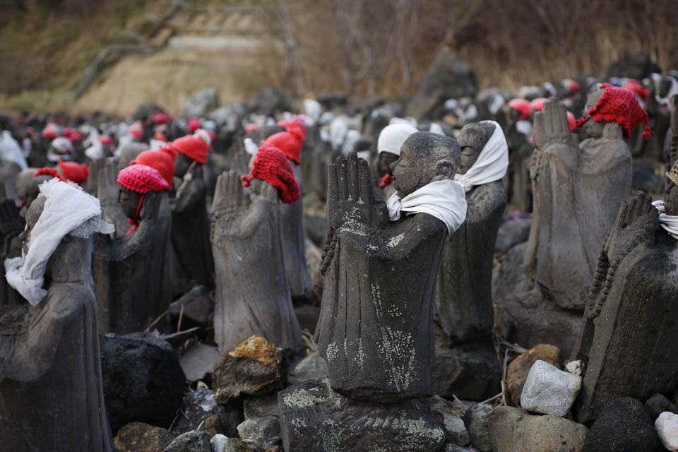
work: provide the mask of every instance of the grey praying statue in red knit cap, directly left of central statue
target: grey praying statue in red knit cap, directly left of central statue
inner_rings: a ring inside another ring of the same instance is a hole
[[[279,198],[297,201],[299,186],[285,154],[267,145],[259,148],[250,174],[242,177],[243,184],[235,172],[225,172],[215,191],[215,342],[225,351],[261,335],[278,347],[299,350],[302,333],[285,278],[278,209]]]

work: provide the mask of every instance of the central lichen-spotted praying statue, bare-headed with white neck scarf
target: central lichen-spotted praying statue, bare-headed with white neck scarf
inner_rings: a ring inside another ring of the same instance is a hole
[[[396,194],[376,203],[355,153],[328,170],[326,276],[316,335],[334,391],[398,401],[430,391],[433,304],[446,234],[463,222],[453,138],[412,134],[393,163]]]

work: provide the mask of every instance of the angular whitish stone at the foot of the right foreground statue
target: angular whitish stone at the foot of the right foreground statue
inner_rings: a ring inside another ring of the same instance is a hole
[[[537,359],[523,386],[521,406],[541,415],[565,417],[581,389],[581,376]]]

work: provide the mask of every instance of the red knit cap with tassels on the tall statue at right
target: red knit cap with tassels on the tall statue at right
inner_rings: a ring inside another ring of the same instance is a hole
[[[650,119],[648,112],[638,103],[636,95],[624,88],[617,88],[609,83],[603,83],[600,88],[605,89],[595,102],[595,107],[588,109],[589,116],[583,117],[577,121],[577,127],[581,127],[589,119],[594,121],[617,121],[624,130],[624,139],[631,138],[631,131],[636,129],[638,124],[645,123],[643,138],[646,140],[652,136],[650,129]]]

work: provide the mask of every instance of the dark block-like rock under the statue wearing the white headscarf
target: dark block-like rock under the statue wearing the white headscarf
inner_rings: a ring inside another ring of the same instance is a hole
[[[432,393],[444,398],[485,400],[501,391],[501,366],[492,343],[474,342],[454,348],[436,346]]]

